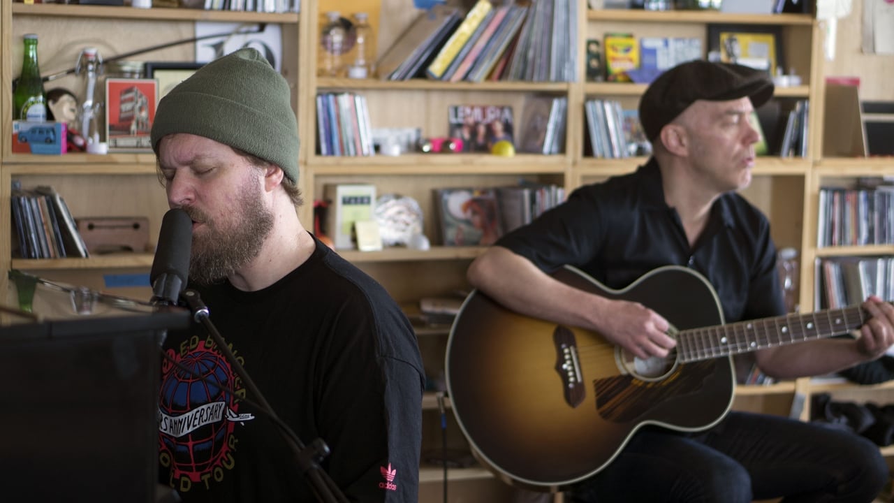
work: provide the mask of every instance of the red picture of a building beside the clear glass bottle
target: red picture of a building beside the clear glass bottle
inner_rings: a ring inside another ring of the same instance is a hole
[[[110,152],[152,150],[149,130],[157,95],[155,79],[105,79],[105,141]]]

